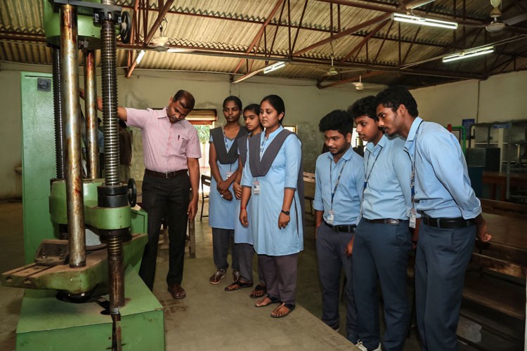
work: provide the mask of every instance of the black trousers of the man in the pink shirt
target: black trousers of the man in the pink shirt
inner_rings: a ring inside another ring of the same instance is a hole
[[[148,213],[148,244],[145,246],[139,276],[150,290],[154,286],[157,242],[163,218],[169,225],[169,273],[167,284],[181,284],[187,232],[190,179],[183,173],[174,178],[143,178],[143,209]]]

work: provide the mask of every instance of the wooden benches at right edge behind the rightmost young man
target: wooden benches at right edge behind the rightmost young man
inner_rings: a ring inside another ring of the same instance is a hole
[[[493,239],[487,243],[476,239],[464,280],[461,315],[500,338],[521,343],[526,317],[527,206],[488,200],[481,204]]]

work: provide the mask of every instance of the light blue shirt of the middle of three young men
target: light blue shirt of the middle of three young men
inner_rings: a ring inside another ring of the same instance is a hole
[[[367,143],[364,152],[365,182],[363,217],[369,220],[408,220],[411,206],[412,164],[402,138],[383,135],[377,145]]]

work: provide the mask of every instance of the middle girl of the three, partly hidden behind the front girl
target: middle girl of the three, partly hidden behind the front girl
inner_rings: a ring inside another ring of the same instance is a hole
[[[238,257],[238,263],[240,264],[240,279],[237,282],[233,282],[225,288],[225,291],[234,291],[241,288],[249,288],[253,286],[252,280],[252,258],[254,256],[254,246],[252,239],[252,232],[249,230],[249,227],[245,227],[240,223],[240,199],[242,199],[242,186],[240,182],[242,181],[242,172],[244,171],[243,166],[245,165],[245,160],[247,159],[247,150],[249,149],[249,138],[252,138],[254,135],[258,135],[263,131],[263,126],[260,123],[260,105],[252,104],[243,110],[243,120],[245,121],[245,127],[249,132],[247,137],[242,137],[238,139],[238,155],[240,157],[240,165],[238,166],[238,176],[233,183],[233,189],[235,192],[235,197],[238,200],[238,211],[235,216],[235,226],[234,226],[234,249],[236,251],[236,256]],[[250,201],[247,203],[247,213],[250,213]],[[263,273],[259,267],[259,284],[251,292],[252,298],[258,298],[263,296],[266,293],[266,282],[263,279]]]

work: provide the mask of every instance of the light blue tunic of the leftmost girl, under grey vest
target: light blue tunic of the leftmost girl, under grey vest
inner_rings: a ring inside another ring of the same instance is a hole
[[[227,151],[233,146],[234,140],[235,139],[229,139],[223,136],[223,142],[226,144]],[[210,137],[210,143],[213,143],[212,135]],[[228,178],[228,173],[238,171],[238,160],[233,164],[220,164],[220,162],[216,160],[216,164],[218,165],[221,179],[223,180]],[[235,221],[238,220],[238,218],[234,218],[238,201],[235,200],[233,185],[231,184],[229,187],[229,191],[233,194],[233,200],[227,201],[221,197],[221,194],[216,189],[218,186],[216,179],[214,179],[214,177],[211,178],[209,193],[209,225],[213,228],[234,229]]]

